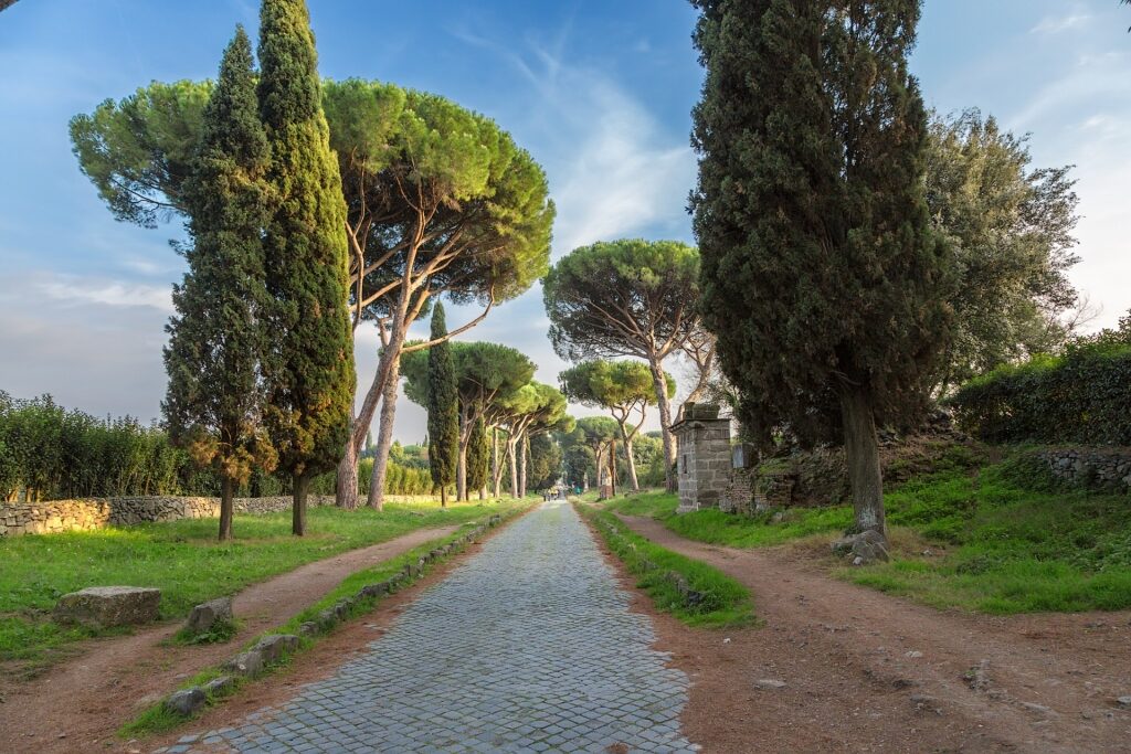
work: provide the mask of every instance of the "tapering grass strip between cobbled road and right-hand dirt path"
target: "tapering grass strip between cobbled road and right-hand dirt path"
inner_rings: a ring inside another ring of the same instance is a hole
[[[744,625],[753,618],[750,592],[722,571],[664,549],[630,530],[608,511],[578,504],[608,548],[638,577],[637,586],[665,610],[691,626]]]

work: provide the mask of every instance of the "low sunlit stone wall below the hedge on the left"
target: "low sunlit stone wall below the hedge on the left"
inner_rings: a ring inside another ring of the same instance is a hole
[[[386,502],[431,502],[432,495],[386,495]],[[333,505],[333,495],[310,495],[310,506]],[[291,510],[291,496],[236,497],[236,513],[275,513]],[[54,500],[42,503],[0,502],[0,537],[21,534],[88,531],[106,526],[131,526],[146,521],[208,519],[219,515],[218,497],[104,497]]]

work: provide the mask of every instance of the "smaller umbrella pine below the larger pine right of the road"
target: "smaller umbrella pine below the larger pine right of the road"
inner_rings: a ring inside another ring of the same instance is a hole
[[[656,405],[656,393],[651,383],[651,371],[647,364],[636,361],[582,362],[558,375],[562,391],[570,400],[584,406],[607,408],[620,427],[624,443],[624,456],[629,468],[629,483],[633,492],[640,489],[637,477],[632,442],[644,425],[646,407]],[[675,380],[664,374],[666,396],[675,395]]]

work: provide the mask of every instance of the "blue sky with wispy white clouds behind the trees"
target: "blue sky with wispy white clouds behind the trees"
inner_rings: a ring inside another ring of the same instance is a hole
[[[597,240],[693,243],[691,107],[702,71],[684,0],[308,0],[325,77],[434,92],[482,112],[543,165],[552,258]],[[214,78],[253,0],[20,0],[0,11],[0,390],[95,415],[158,418],[180,223],[116,222],[79,172],[67,124],[150,80]],[[1081,262],[1100,309],[1131,309],[1131,8],[1117,0],[925,0],[912,70],[929,106],[976,106],[1029,133],[1034,165],[1076,165]],[[455,307],[449,327],[474,317]],[[519,348],[555,384],[541,289],[464,339]],[[414,335],[423,335],[422,326]],[[357,337],[360,384],[378,338]],[[667,365],[676,379],[685,367]],[[578,415],[596,413],[579,408]],[[424,436],[402,397],[395,435]],[[656,426],[655,416],[649,426]]]

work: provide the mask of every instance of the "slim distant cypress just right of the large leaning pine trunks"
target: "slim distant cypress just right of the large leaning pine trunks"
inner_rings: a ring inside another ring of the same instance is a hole
[[[443,305],[432,312],[431,339],[448,335]],[[451,344],[435,344],[428,353],[428,462],[432,482],[440,487],[440,503],[448,505],[448,487],[456,480],[459,459],[459,389]]]

